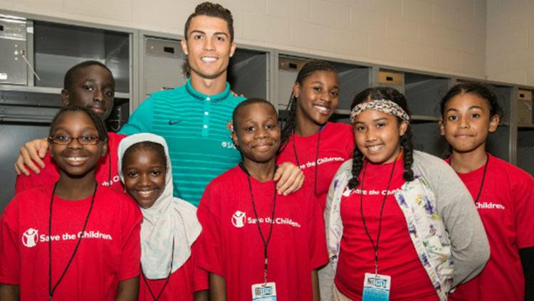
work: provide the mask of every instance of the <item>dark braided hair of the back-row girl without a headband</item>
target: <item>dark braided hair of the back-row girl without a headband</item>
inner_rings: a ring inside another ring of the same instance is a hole
[[[325,60],[310,60],[308,63],[305,63],[303,65],[303,68],[298,71],[297,79],[295,80],[295,84],[300,85],[301,87],[304,84],[304,80],[308,78],[310,75],[317,71],[329,71],[335,73],[337,76],[337,72],[335,71],[335,68],[332,64],[328,63]],[[283,128],[281,132],[281,139],[280,139],[280,150],[278,151],[283,152],[283,149],[286,148],[286,145],[289,142],[289,138],[291,137],[291,134],[295,132],[295,125],[297,120],[297,97],[293,94],[293,91],[291,91],[291,96],[289,97],[288,106],[286,107],[286,110],[289,111],[289,116],[287,118],[284,118],[283,122]]]

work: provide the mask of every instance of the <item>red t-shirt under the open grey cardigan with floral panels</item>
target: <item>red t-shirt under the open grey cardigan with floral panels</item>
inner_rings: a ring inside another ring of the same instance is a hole
[[[390,300],[438,300],[408,233],[408,226],[394,194],[404,184],[403,160],[395,162],[389,194],[382,213],[378,248],[378,273],[391,276]],[[363,186],[363,211],[367,229],[377,243],[380,207],[393,163],[367,164]],[[360,172],[360,184],[362,179]],[[343,235],[335,285],[351,300],[361,300],[365,273],[375,273],[375,250],[365,233],[360,213],[360,187],[345,190],[341,198]]]

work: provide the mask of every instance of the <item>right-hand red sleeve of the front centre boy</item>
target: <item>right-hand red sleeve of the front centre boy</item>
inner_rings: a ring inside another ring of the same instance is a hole
[[[328,263],[326,234],[323,212],[315,196],[308,194],[304,200],[308,204],[308,238],[310,241],[310,267],[312,270]]]

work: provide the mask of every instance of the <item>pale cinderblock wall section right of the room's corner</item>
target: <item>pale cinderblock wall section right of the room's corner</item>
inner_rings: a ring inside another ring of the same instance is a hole
[[[534,85],[534,1],[487,3],[488,79]]]

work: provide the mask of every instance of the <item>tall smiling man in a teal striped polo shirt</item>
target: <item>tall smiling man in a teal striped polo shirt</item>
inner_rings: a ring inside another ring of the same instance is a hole
[[[198,206],[209,181],[241,160],[229,125],[234,108],[245,98],[234,96],[226,82],[229,60],[236,51],[230,11],[219,4],[199,4],[187,19],[184,37],[189,80],[150,95],[120,133],[151,132],[164,137],[172,161],[174,195]],[[286,166],[284,173],[289,183],[300,181],[295,180],[300,173],[297,168]],[[290,186],[278,182],[279,191]]]

